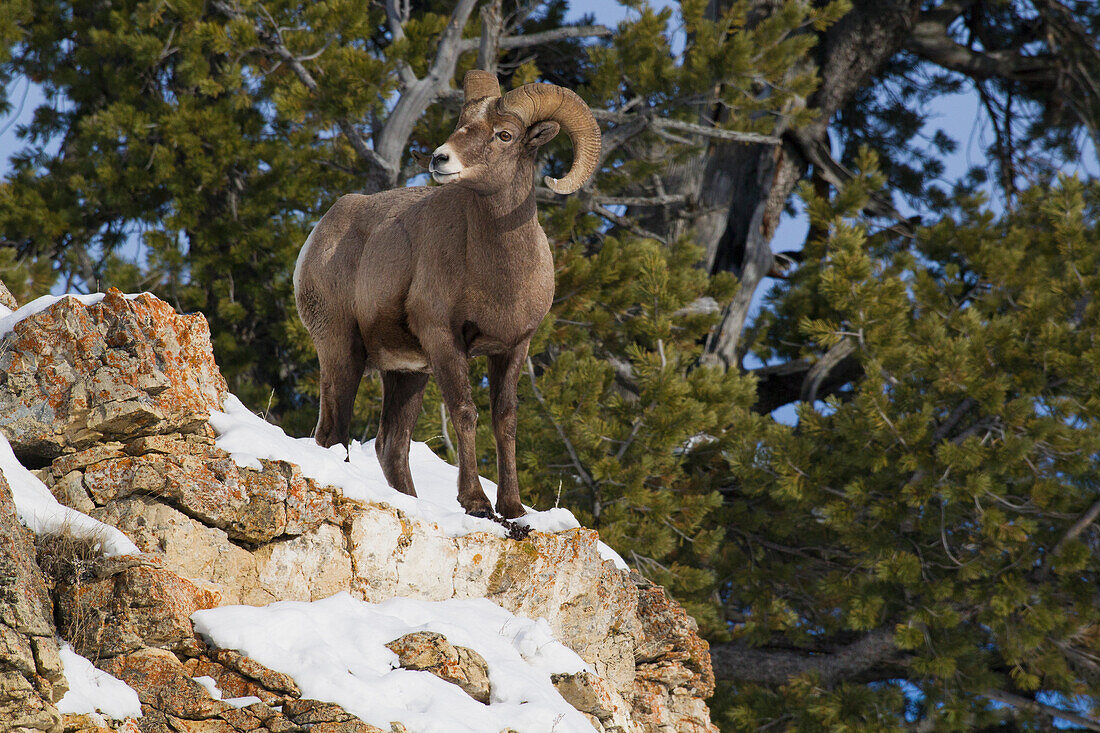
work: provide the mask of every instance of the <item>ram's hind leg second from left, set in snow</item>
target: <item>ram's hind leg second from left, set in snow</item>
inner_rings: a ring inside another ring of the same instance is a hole
[[[419,372],[382,372],[382,419],[374,448],[389,485],[416,496],[409,472],[409,440],[420,414],[428,375]]]

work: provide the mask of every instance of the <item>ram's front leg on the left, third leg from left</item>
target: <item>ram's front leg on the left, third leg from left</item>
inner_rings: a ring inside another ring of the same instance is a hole
[[[492,516],[493,505],[477,479],[477,449],[474,435],[477,429],[477,408],[470,391],[470,368],[466,355],[459,350],[450,333],[436,338],[421,338],[428,362],[436,375],[443,404],[451,415],[451,425],[458,437],[459,503],[466,514]]]

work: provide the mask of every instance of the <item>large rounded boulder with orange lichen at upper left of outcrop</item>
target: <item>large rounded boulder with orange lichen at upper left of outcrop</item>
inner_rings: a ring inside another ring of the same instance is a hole
[[[23,459],[206,431],[226,393],[206,319],[147,294],[63,298],[0,338],[0,430]]]

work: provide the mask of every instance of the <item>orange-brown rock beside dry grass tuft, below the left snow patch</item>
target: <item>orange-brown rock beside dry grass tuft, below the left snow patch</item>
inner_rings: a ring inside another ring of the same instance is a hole
[[[91,659],[144,647],[178,649],[190,642],[190,615],[221,599],[160,566],[155,557],[105,558],[96,577],[59,584],[55,599],[64,638]]]

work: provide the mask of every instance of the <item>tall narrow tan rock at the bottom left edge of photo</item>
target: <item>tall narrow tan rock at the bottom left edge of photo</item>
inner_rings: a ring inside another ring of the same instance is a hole
[[[12,731],[62,730],[55,702],[68,689],[33,535],[0,472],[0,721]]]

